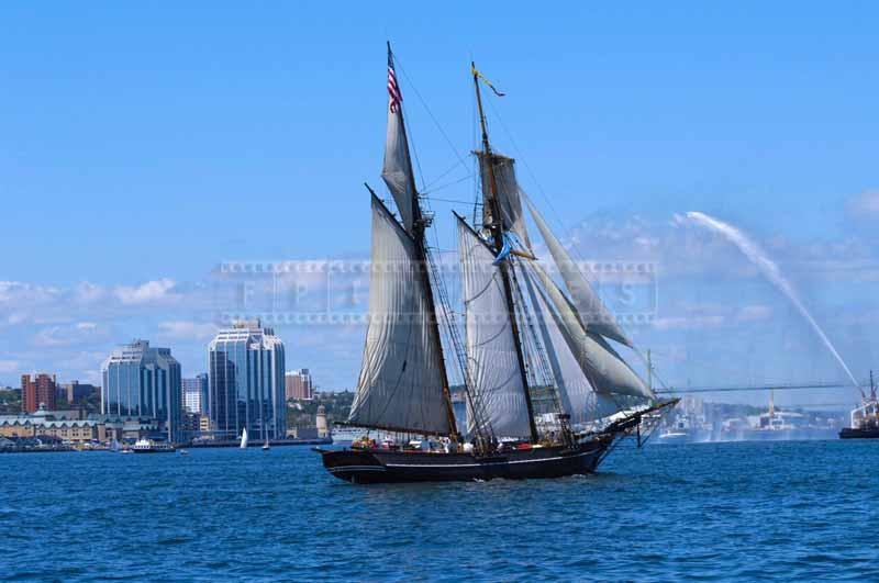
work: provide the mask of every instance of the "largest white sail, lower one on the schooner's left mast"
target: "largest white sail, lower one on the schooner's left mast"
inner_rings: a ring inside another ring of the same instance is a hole
[[[369,328],[352,425],[450,433],[421,267],[415,242],[372,197]]]

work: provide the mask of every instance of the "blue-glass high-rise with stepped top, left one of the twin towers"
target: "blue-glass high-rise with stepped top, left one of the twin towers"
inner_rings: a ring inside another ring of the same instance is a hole
[[[134,340],[110,355],[101,368],[101,413],[149,417],[170,441],[182,438],[180,363],[169,348]]]

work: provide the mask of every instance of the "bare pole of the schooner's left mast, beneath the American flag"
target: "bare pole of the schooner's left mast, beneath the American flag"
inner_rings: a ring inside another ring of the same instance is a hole
[[[388,41],[388,60],[392,64],[393,63],[393,52],[391,51],[391,43]],[[403,136],[403,142],[405,144],[407,152],[409,150],[409,137],[405,133],[405,121],[403,120],[403,108],[398,106],[397,114],[400,116],[400,132]],[[455,423],[455,410],[452,405],[452,391],[448,386],[448,374],[446,372],[446,365],[445,365],[445,357],[443,356],[443,343],[441,341],[439,337],[439,314],[436,313],[436,303],[434,302],[433,298],[433,288],[431,287],[431,274],[430,270],[427,269],[427,245],[424,236],[424,232],[430,225],[430,221],[425,220],[424,215],[421,212],[421,204],[419,202],[419,191],[415,187],[415,172],[412,169],[412,158],[407,156],[407,166],[408,166],[408,175],[410,181],[410,188],[412,192],[412,237],[415,239],[415,248],[418,251],[418,259],[419,259],[419,272],[421,276],[422,283],[424,284],[425,289],[425,300],[427,302],[427,312],[430,313],[431,322],[429,326],[431,328],[431,335],[433,335],[434,340],[436,341],[437,351],[436,351],[436,366],[439,368],[439,374],[443,382],[443,400],[446,405],[446,415],[448,416],[448,427],[449,427],[449,437],[453,441],[458,441],[458,426]]]

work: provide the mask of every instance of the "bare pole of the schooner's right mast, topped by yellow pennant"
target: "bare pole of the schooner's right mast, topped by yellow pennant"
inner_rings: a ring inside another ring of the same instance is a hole
[[[476,102],[479,105],[479,125],[482,130],[482,149],[486,156],[490,187],[489,202],[491,203],[492,222],[489,227],[491,228],[491,236],[493,237],[493,247],[497,254],[503,249],[503,218],[501,214],[501,205],[498,200],[498,182],[494,177],[494,159],[491,154],[491,145],[488,141],[488,127],[486,126],[486,115],[482,111],[482,96],[479,92],[479,74],[476,70],[476,64],[470,63],[470,68],[474,75],[474,86],[476,87]],[[522,341],[519,334],[519,323],[515,317],[515,305],[513,304],[512,284],[510,282],[509,266],[505,261],[498,265],[501,273],[501,281],[503,282],[503,295],[507,302],[507,313],[510,318],[510,328],[513,334],[513,343],[515,344],[515,356],[519,361],[519,373],[522,377],[522,389],[525,393],[525,406],[528,412],[528,428],[531,430],[531,441],[537,442],[537,425],[534,423],[534,405],[531,402],[531,392],[528,390],[528,378],[525,372],[525,355],[522,351]]]

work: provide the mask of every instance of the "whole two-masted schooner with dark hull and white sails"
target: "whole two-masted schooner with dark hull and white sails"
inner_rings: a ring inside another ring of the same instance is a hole
[[[408,436],[368,436],[321,449],[326,470],[353,483],[558,478],[593,472],[620,439],[658,424],[660,401],[619,350],[635,350],[536,205],[514,160],[491,147],[471,64],[481,132],[481,198],[455,214],[463,330],[429,246],[433,215],[416,186],[402,94],[388,45],[388,126],[381,177],[396,213],[371,198],[369,325],[348,424]],[[538,262],[525,209],[547,249]],[[479,217],[477,220],[477,216]],[[445,343],[444,343],[445,340]],[[449,373],[463,382],[458,429]]]

